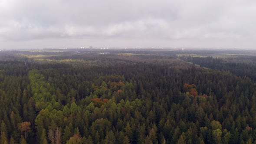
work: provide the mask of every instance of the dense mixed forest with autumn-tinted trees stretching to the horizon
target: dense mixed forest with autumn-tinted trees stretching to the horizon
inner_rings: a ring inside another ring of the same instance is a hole
[[[256,144],[239,53],[0,51],[0,144]]]

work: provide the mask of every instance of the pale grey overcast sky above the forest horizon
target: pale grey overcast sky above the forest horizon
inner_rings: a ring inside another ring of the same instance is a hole
[[[255,0],[0,0],[0,49],[255,44]]]

